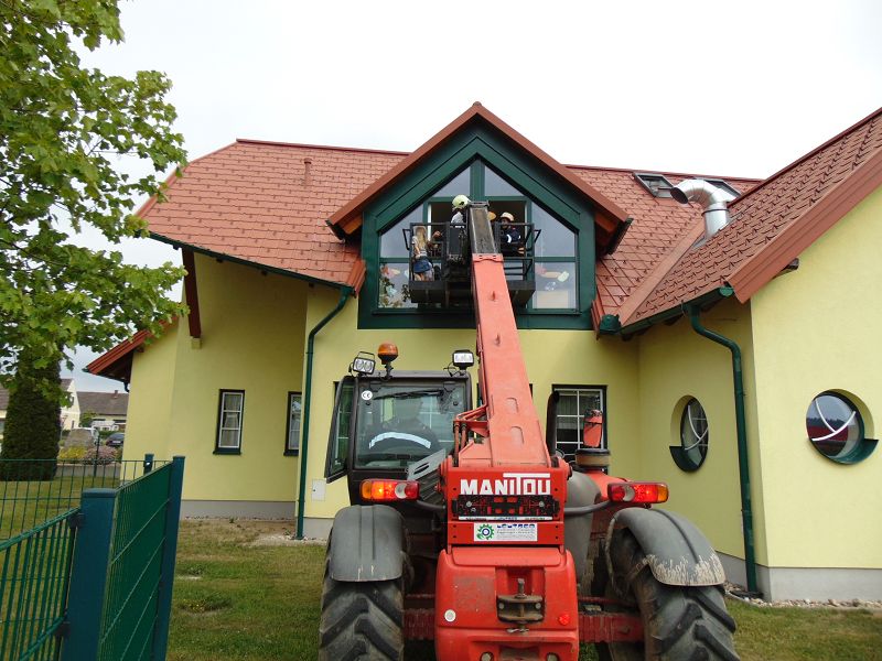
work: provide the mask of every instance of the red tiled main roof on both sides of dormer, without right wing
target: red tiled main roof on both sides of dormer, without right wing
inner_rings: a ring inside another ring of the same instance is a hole
[[[343,217],[344,205],[405,158],[398,152],[237,140],[192,162],[182,178],[170,182],[168,201],[151,201],[141,215],[154,238],[358,289],[364,278],[358,247],[337,239],[325,219]],[[309,181],[304,160],[310,160]],[[616,313],[684,232],[700,224],[701,214],[653,197],[627,170],[559,167],[633,219],[617,250],[598,264],[599,302],[605,313]],[[664,174],[673,183],[696,176]],[[756,183],[727,181],[740,191]]]

